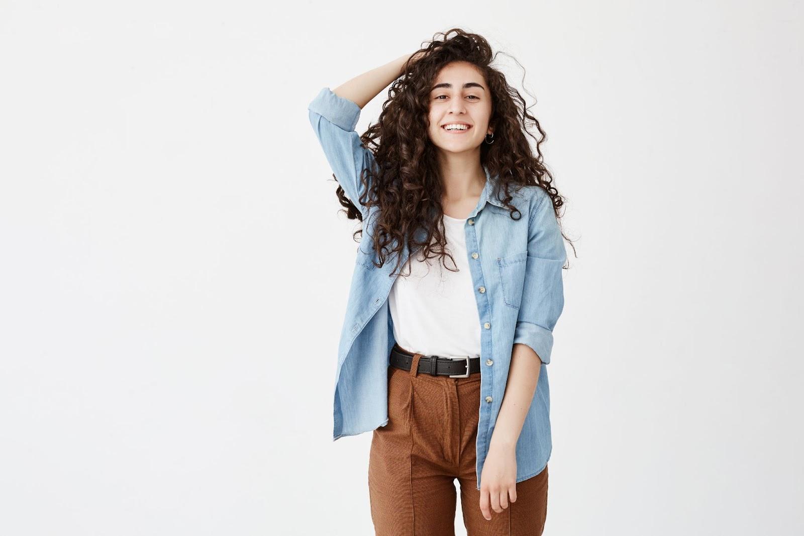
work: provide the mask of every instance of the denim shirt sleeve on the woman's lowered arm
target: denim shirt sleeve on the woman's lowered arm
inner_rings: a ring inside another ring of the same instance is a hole
[[[552,330],[564,309],[562,266],[567,251],[548,193],[539,188],[531,203],[535,209],[527,228],[525,283],[514,344],[527,344],[547,365],[552,353]]]

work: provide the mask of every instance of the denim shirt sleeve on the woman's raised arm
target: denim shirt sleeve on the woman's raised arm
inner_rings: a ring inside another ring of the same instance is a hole
[[[360,117],[360,107],[355,102],[322,88],[307,106],[310,124],[321,143],[327,162],[335,179],[355,207],[366,216],[366,209],[359,200],[366,191],[360,180],[364,169],[374,160],[371,150],[363,146],[355,132]]]

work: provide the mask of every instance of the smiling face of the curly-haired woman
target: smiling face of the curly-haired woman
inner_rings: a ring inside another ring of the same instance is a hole
[[[441,150],[461,153],[476,150],[493,132],[491,93],[486,80],[473,64],[456,61],[441,68],[430,91],[428,134]],[[463,124],[462,130],[445,126]]]

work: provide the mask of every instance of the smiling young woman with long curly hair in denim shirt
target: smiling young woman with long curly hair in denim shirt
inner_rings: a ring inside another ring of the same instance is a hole
[[[334,439],[373,431],[376,534],[454,534],[455,479],[470,536],[542,534],[563,198],[544,131],[486,40],[440,35],[309,105],[338,200],[363,223]],[[360,136],[360,110],[388,84]]]

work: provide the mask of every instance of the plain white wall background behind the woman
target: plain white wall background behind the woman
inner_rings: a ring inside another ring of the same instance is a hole
[[[545,534],[804,533],[802,15],[2,2],[0,532],[373,534],[307,105],[463,27],[523,66],[576,240]]]

